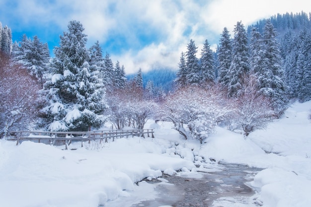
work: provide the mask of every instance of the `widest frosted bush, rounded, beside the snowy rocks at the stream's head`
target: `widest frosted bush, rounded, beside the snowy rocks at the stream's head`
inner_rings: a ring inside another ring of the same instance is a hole
[[[214,132],[217,122],[228,112],[222,106],[222,93],[214,87],[189,86],[177,90],[161,105],[162,119],[171,121],[184,138],[202,143]]]

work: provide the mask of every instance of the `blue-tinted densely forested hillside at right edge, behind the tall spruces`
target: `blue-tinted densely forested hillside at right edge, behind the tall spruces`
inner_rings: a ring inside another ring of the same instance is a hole
[[[286,13],[272,16],[269,20],[278,32],[285,72],[287,95],[300,101],[311,100],[311,13]],[[248,26],[248,33],[255,27],[262,33],[266,19]]]

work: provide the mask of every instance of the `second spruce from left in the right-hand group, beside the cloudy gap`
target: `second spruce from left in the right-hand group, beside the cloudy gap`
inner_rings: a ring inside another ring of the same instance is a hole
[[[186,84],[199,84],[200,82],[200,67],[198,63],[198,58],[195,56],[198,47],[195,46],[194,41],[191,39],[187,46],[186,53]]]

